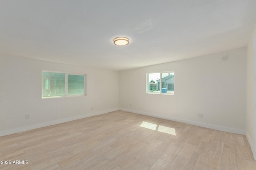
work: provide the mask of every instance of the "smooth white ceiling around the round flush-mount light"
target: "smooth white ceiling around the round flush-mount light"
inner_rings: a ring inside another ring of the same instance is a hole
[[[256,0],[1,0],[0,56],[126,70],[246,47],[255,23]]]

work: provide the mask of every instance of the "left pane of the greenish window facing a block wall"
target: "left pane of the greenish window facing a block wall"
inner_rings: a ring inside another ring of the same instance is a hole
[[[65,96],[65,73],[42,72],[42,97]]]

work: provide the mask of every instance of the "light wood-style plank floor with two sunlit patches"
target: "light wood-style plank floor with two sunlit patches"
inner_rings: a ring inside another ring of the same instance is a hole
[[[0,137],[1,170],[256,170],[244,135],[114,111]]]

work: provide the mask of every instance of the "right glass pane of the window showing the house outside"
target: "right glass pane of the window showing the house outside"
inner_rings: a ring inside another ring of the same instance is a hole
[[[162,93],[174,93],[174,72],[162,73]]]

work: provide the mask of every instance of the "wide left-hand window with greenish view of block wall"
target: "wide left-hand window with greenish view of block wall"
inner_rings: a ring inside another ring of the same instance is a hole
[[[42,72],[42,98],[84,96],[86,75]]]

